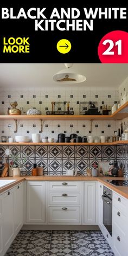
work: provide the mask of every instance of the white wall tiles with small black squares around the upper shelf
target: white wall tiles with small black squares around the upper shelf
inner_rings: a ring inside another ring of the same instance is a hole
[[[128,81],[128,80],[127,80]],[[120,88],[122,89],[124,85]],[[121,90],[120,89],[120,90]],[[128,82],[127,82],[128,89]],[[120,91],[119,91],[120,92]],[[11,95],[11,98],[8,98],[8,95]],[[23,95],[23,98],[21,98]],[[36,98],[33,98],[33,95],[36,95]],[[48,95],[48,98],[46,98]],[[61,95],[61,98],[58,98],[58,95]],[[71,98],[73,95],[73,98]],[[86,95],[86,98],[83,98],[83,95]],[[95,95],[98,95],[98,98],[95,98]],[[111,95],[111,98],[108,98],[108,95]],[[21,88],[17,90],[17,88],[7,89],[7,91],[1,91],[0,94],[0,114],[7,114],[8,107],[10,107],[10,103],[12,101],[17,101],[18,108],[23,108],[24,113],[27,112],[29,108],[36,107],[41,111],[42,114],[46,114],[46,107],[48,110],[51,110],[52,101],[70,101],[70,107],[73,107],[73,111],[75,114],[79,114],[79,104],[76,104],[76,101],[98,101],[98,107],[100,111],[100,106],[109,105],[113,106],[114,101],[118,101],[118,89],[109,88],[109,90],[100,87],[91,87],[91,88],[83,88],[83,87],[65,87],[61,88],[61,90],[56,88]],[[27,104],[29,101],[29,104]],[[42,104],[39,104],[39,101],[42,101]],[[104,101],[104,104],[102,104]],[[4,104],[2,104],[4,102]],[[21,127],[21,124],[23,127]],[[33,124],[36,124],[36,127],[33,127]],[[46,127],[48,124],[48,127]],[[57,125],[60,124],[61,127]],[[108,127],[108,124],[111,127]],[[8,127],[8,126],[11,127]],[[73,125],[71,127],[70,125]],[[86,127],[83,127],[85,125]],[[63,133],[66,131],[66,136],[71,133],[76,133],[79,131],[78,135],[80,136],[88,136],[90,130],[90,121],[44,121],[43,124],[43,133],[41,137],[53,137],[57,139],[58,133]],[[98,127],[95,127],[98,125]],[[101,136],[105,135],[111,136],[114,134],[114,131],[118,130],[120,127],[120,121],[93,121],[92,123],[92,136]],[[4,134],[3,132],[4,131]],[[15,124],[14,121],[1,121],[0,123],[0,135],[7,135],[15,137]],[[29,133],[27,133],[29,131]],[[18,121],[18,132],[17,135],[28,135],[31,138],[31,133],[38,133],[40,131],[40,121]],[[52,133],[54,131],[54,133]],[[104,134],[101,133],[104,131]]]

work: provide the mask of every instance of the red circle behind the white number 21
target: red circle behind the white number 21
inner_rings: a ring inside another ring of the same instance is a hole
[[[110,43],[107,42],[103,44],[105,40],[111,40],[113,42],[113,47],[110,52],[114,52],[113,55],[110,55],[108,52],[104,55],[103,53],[108,49]],[[121,40],[121,55],[119,54],[119,47],[116,46],[116,43]],[[106,34],[98,46],[98,56],[101,62],[103,63],[128,63],[128,33],[121,30],[111,31]]]

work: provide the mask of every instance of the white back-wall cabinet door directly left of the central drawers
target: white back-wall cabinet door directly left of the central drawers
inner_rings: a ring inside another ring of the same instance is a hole
[[[26,222],[46,221],[45,182],[27,182]]]

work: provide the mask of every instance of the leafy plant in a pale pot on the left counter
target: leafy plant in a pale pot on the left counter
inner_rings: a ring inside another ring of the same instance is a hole
[[[9,163],[9,176],[21,176],[21,170],[24,168],[24,163],[27,157],[20,158],[17,155],[10,154],[11,161]]]

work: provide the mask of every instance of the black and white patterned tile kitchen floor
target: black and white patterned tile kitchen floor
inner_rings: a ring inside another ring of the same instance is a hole
[[[20,231],[7,255],[114,256],[100,231]]]

